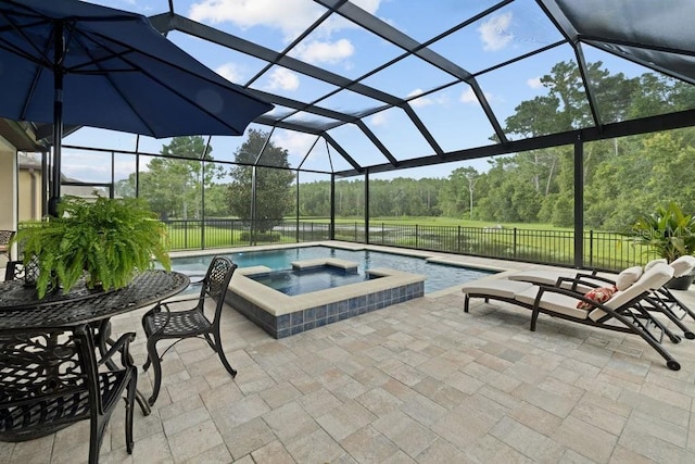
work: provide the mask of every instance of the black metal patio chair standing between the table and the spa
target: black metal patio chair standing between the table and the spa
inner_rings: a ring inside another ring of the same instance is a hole
[[[197,285],[201,286],[200,296],[192,299],[176,300],[177,303],[195,301],[195,306],[187,311],[170,311],[172,302],[162,302],[142,316],[142,327],[148,338],[148,360],[142,368],[154,367],[154,385],[148,402],[153,405],[162,386],[161,361],[164,354],[179,341],[187,338],[201,338],[219,355],[219,360],[233,378],[237,375],[225,355],[219,336],[219,319],[225,304],[225,296],[237,265],[224,256],[214,256],[205,277]],[[215,314],[211,321],[205,316],[205,302],[215,301]],[[163,311],[164,310],[164,311]],[[164,339],[176,339],[160,355],[156,343]]]

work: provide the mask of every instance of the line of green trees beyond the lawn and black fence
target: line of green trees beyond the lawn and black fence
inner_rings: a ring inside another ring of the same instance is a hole
[[[609,74],[601,62],[589,65],[595,109],[604,123],[695,108],[690,84],[647,73],[629,78]],[[505,121],[511,138],[536,137],[593,125],[579,70],[557,63],[541,78],[547,95],[521,102]],[[237,149],[232,167],[216,164],[202,137],[177,137],[139,174],[140,196],[162,218],[253,218],[269,229],[299,208],[301,216],[327,217],[330,183],[300,185],[289,170],[288,151],[267,133],[250,130]],[[494,140],[494,137],[491,137]],[[621,230],[657,204],[674,200],[695,211],[692,165],[694,128],[644,134],[584,143],[584,224]],[[260,161],[263,167],[253,168]],[[204,160],[204,163],[201,163]],[[495,223],[573,224],[573,147],[554,147],[488,159],[486,170],[458,167],[445,178],[369,180],[369,214],[380,217],[446,216]],[[267,166],[280,167],[280,170]],[[251,186],[255,179],[255,195]],[[203,192],[204,186],[204,192]],[[116,192],[134,195],[135,174],[118,181]],[[204,195],[204,203],[202,201]],[[296,203],[299,198],[299,204]],[[251,213],[252,204],[255,214]],[[364,217],[364,179],[340,180],[336,214]]]

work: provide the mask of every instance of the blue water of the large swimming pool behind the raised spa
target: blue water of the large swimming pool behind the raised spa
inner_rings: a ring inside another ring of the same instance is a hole
[[[370,250],[342,250],[320,246],[233,252],[225,253],[224,255],[232,260],[239,267],[260,265],[269,267],[273,271],[290,269],[293,261],[315,260],[319,258],[353,261],[357,263],[358,275],[362,279],[365,279],[366,269],[388,267],[405,273],[426,275],[426,293],[443,290],[495,274],[494,271],[435,264],[420,258],[404,256],[394,253]],[[205,274],[211,260],[212,255],[174,258],[172,265],[174,271],[188,274]]]

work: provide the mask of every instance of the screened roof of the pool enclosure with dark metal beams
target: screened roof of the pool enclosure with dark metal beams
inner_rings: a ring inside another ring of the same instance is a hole
[[[92,2],[150,16],[274,103],[250,127],[269,131],[299,170],[349,176],[695,125],[686,102],[631,120],[621,105],[635,89],[606,99],[590,71],[692,84],[692,0]],[[564,75],[579,89],[560,102],[571,121],[508,128],[521,102],[552,97],[543,76],[559,63],[579,71]]]

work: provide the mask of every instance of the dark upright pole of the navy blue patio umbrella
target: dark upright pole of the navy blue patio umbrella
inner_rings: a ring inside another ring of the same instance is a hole
[[[61,149],[63,145],[63,58],[65,51],[65,37],[63,36],[63,23],[55,24],[54,40],[54,66],[53,66],[53,181],[51,198],[48,202],[48,212],[58,217],[58,203],[61,200]]]

